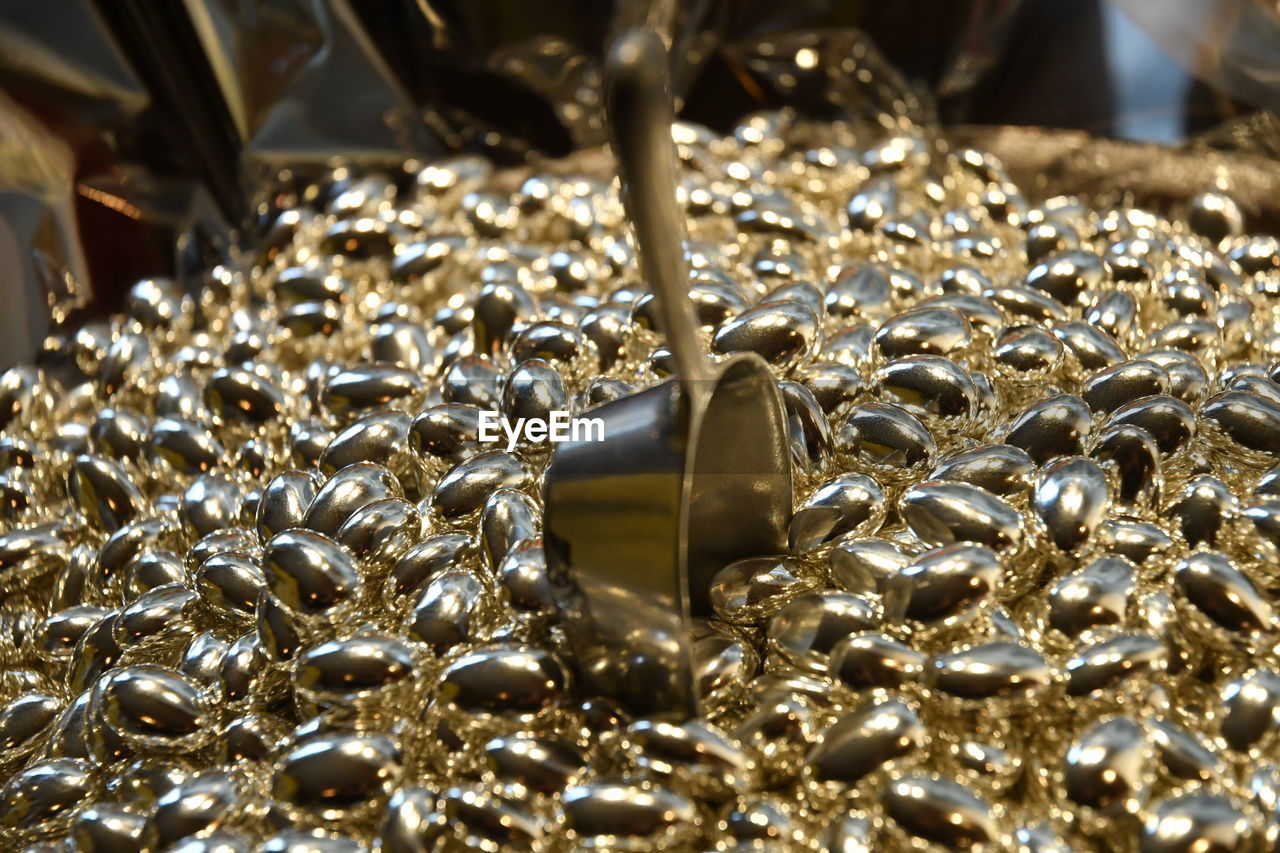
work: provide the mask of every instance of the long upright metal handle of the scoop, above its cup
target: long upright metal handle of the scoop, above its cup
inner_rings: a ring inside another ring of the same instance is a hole
[[[628,29],[613,42],[604,65],[604,91],[622,204],[635,231],[640,272],[658,302],[676,374],[685,382],[709,379],[710,365],[699,345],[689,300],[685,215],[676,204],[667,49],[655,32]]]

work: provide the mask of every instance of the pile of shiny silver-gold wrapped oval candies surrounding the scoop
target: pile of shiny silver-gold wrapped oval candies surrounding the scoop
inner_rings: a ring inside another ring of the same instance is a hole
[[[1280,243],[909,129],[675,137],[795,462],[701,717],[575,686],[552,447],[477,439],[669,369],[607,159],[339,169],[0,379],[4,849],[1277,849]]]

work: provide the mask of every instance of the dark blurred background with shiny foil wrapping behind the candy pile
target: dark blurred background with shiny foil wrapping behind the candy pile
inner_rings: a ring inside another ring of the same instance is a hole
[[[598,60],[640,20],[721,131],[791,105],[1280,156],[1263,0],[0,0],[0,368],[140,278],[198,283],[282,174],[599,145]]]

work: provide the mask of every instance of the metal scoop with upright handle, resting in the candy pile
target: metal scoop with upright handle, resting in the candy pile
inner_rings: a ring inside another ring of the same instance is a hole
[[[557,446],[547,561],[585,693],[636,713],[692,715],[691,617],[710,615],[712,576],[786,548],[786,415],[763,360],[712,364],[699,345],[654,32],[614,42],[605,88],[623,202],[676,375],[593,410],[603,441]]]

